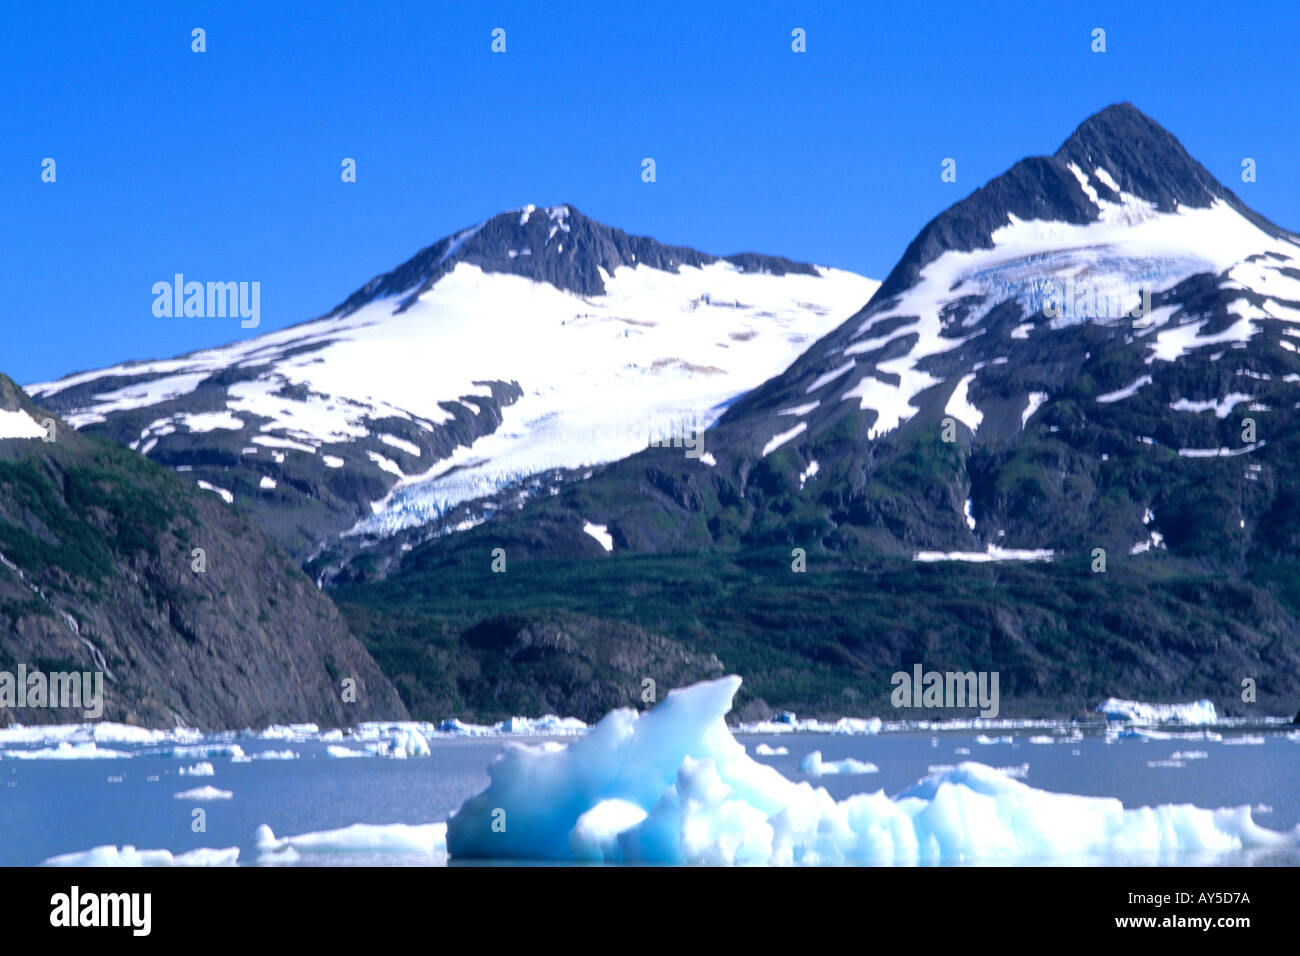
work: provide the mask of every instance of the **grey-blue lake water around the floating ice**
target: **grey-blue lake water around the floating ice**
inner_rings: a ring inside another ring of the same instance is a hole
[[[785,747],[785,756],[757,757],[792,779],[810,779],[837,800],[858,792],[896,793],[927,775],[931,767],[979,761],[994,767],[1028,763],[1022,779],[1040,790],[1113,796],[1124,806],[1195,804],[1254,809],[1256,821],[1271,830],[1300,825],[1300,740],[1288,731],[1256,730],[1261,744],[1223,740],[1118,739],[1101,734],[1050,744],[1031,744],[1044,730],[991,731],[1011,743],[980,744],[974,731],[932,734],[887,732],[872,736],[827,734],[737,735],[753,754],[758,744]],[[229,735],[222,737],[230,740]],[[537,744],[546,737],[515,737]],[[572,737],[550,737],[567,743]],[[250,757],[291,749],[296,760],[207,758],[212,777],[181,775],[200,758],[144,754],[155,745],[110,744],[138,756],[129,760],[0,758],[0,865],[32,865],[91,847],[130,844],[173,853],[199,847],[239,847],[243,865],[256,864],[254,834],[266,823],[277,836],[333,830],[351,823],[430,823],[446,819],[467,797],[488,786],[488,765],[504,747],[500,737],[438,737],[432,754],[393,760],[329,757],[320,740],[239,737]],[[10,749],[21,749],[12,748]],[[968,750],[961,753],[959,750]],[[823,761],[853,757],[880,767],[874,774],[806,778],[800,761],[820,750]],[[1204,752],[1182,767],[1150,766],[1175,753]],[[213,786],[233,791],[230,800],[178,800],[174,793]],[[192,810],[207,814],[207,831],[194,832]],[[434,865],[432,855],[332,853],[304,855],[304,864]],[[1049,861],[1043,861],[1049,862]],[[1219,855],[1212,860],[1158,862],[1300,865],[1300,852]]]

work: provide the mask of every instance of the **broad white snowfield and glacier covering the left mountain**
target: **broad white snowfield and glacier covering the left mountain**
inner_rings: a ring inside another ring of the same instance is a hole
[[[520,211],[525,220],[534,212],[551,219],[551,238],[564,238],[568,209]],[[324,455],[335,468],[348,444],[374,438],[393,454],[348,458],[396,483],[354,531],[387,533],[530,475],[602,464],[651,440],[702,432],[725,403],[786,368],[880,285],[840,269],[777,276],[724,260],[679,272],[624,265],[614,274],[601,269],[601,278],[606,293],[584,297],[460,261],[403,311],[411,289],[347,315],[27,392],[40,401],[98,380],[142,380],[79,399],[64,416],[79,428],[188,395],[221,369],[256,368],[252,380],[226,388],[225,408],[156,418],[131,447],[148,454],[170,436],[229,429],[244,433],[251,462],[269,467],[272,458],[281,464],[286,453],[300,453]],[[499,428],[441,460],[378,423],[396,418],[433,432],[454,420],[448,405],[481,415],[474,399],[491,397],[488,382],[514,382],[524,394],[503,408]],[[254,416],[266,421],[252,425]],[[26,436],[29,423],[0,419],[0,437],[20,427]],[[200,486],[228,503],[234,498],[221,485]]]

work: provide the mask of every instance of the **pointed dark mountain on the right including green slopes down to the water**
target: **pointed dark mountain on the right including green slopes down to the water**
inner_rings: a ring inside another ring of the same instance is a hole
[[[1001,671],[1005,713],[1291,713],[1297,349],[1300,241],[1109,107],[927,224],[706,457],[646,449],[337,597],[465,623],[424,596],[500,548],[494,607],[658,628],[770,705],[879,713],[923,662]]]

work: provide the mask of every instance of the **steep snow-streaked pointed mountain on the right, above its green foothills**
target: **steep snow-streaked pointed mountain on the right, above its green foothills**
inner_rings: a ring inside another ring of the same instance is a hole
[[[530,509],[519,544],[610,551],[592,524],[614,550],[1243,559],[1291,527],[1297,349],[1300,241],[1110,107],[931,221],[863,310],[728,408],[711,462],[650,449]]]

